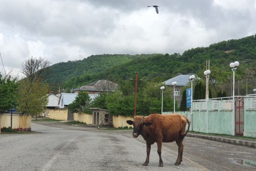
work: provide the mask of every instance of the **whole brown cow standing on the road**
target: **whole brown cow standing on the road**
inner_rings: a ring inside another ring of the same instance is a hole
[[[133,121],[128,120],[126,123],[133,124],[133,138],[142,135],[147,144],[147,158],[143,166],[149,163],[149,154],[151,145],[157,143],[157,154],[159,155],[159,167],[163,167],[161,157],[162,142],[175,141],[178,145],[178,157],[175,165],[182,162],[183,139],[187,135],[190,127],[189,119],[179,114],[161,115],[150,114],[147,117],[134,116]],[[185,132],[186,124],[189,124]]]

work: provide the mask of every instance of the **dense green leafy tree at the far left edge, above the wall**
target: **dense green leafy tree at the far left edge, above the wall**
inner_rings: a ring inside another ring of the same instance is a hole
[[[5,78],[0,73],[0,113],[15,107],[18,98],[18,84],[10,76]]]

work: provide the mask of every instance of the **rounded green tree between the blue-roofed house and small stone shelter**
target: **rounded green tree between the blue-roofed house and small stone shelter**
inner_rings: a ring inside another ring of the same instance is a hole
[[[69,104],[68,109],[74,113],[91,113],[90,111],[91,99],[88,92],[81,91],[76,96],[75,100]]]

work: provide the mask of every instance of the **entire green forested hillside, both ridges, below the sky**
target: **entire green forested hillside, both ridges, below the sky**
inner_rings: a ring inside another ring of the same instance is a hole
[[[186,50],[182,55],[92,55],[83,60],[52,65],[53,73],[48,81],[52,87],[77,88],[97,79],[118,83],[118,80],[135,78],[135,72],[139,73],[140,79],[157,78],[163,81],[177,73],[195,73],[204,77],[208,59],[211,79],[227,81],[232,75],[229,64],[235,60],[240,62],[236,77],[248,76],[249,71],[256,69],[256,38],[253,35],[239,40],[221,41],[209,47]]]

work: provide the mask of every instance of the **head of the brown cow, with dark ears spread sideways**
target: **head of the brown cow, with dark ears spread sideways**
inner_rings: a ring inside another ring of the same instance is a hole
[[[133,121],[126,121],[129,125],[133,125],[133,138],[137,138],[142,133],[143,126],[150,126],[152,124],[151,122],[145,122],[144,119],[145,117],[142,116],[134,116]]]

